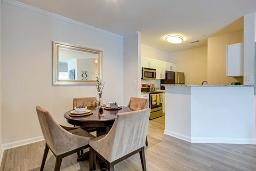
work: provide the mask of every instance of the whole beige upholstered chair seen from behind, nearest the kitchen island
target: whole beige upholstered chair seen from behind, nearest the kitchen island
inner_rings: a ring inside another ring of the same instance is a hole
[[[150,109],[119,113],[107,135],[89,140],[90,171],[93,170],[95,154],[114,171],[118,162],[140,152],[142,170],[146,169],[145,141],[148,130]]]

